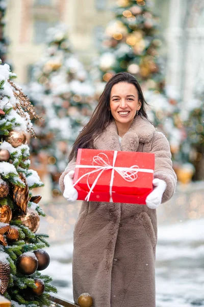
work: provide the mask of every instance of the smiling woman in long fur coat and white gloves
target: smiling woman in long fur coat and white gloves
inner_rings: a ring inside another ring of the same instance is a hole
[[[73,144],[60,178],[68,201],[78,148],[155,153],[153,191],[146,205],[82,203],[73,233],[73,297],[88,292],[94,307],[155,307],[156,208],[175,191],[176,176],[166,137],[145,112],[137,80],[118,73],[106,84],[88,124]]]

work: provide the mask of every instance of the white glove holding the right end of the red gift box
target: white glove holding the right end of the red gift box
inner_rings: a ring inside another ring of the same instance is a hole
[[[166,182],[164,180],[155,178],[152,181],[154,185],[153,191],[146,198],[146,205],[150,209],[156,209],[162,203],[162,196],[166,189]]]

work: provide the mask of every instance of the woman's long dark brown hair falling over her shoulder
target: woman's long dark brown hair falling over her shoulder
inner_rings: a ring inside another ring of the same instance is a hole
[[[98,105],[96,106],[89,122],[80,132],[77,140],[75,140],[72,150],[69,155],[69,161],[77,156],[79,148],[93,148],[93,140],[99,135],[113,120],[113,116],[110,110],[110,95],[113,85],[119,82],[127,82],[135,85],[138,92],[138,100],[141,102],[141,108],[139,109],[138,115],[148,120],[145,104],[147,102],[144,99],[140,84],[135,77],[129,73],[118,73],[115,74],[107,82],[103,93],[100,95]]]

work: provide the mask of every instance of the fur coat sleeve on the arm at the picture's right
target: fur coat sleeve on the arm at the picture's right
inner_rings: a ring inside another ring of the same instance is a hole
[[[166,190],[162,197],[162,203],[165,203],[175,192],[177,178],[172,168],[169,142],[163,133],[155,133],[151,152],[155,153],[154,178],[162,179],[166,182]]]

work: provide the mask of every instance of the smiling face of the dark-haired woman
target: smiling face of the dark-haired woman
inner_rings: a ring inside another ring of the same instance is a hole
[[[119,82],[113,85],[110,96],[110,108],[116,123],[132,123],[140,109],[138,93],[134,84]]]

